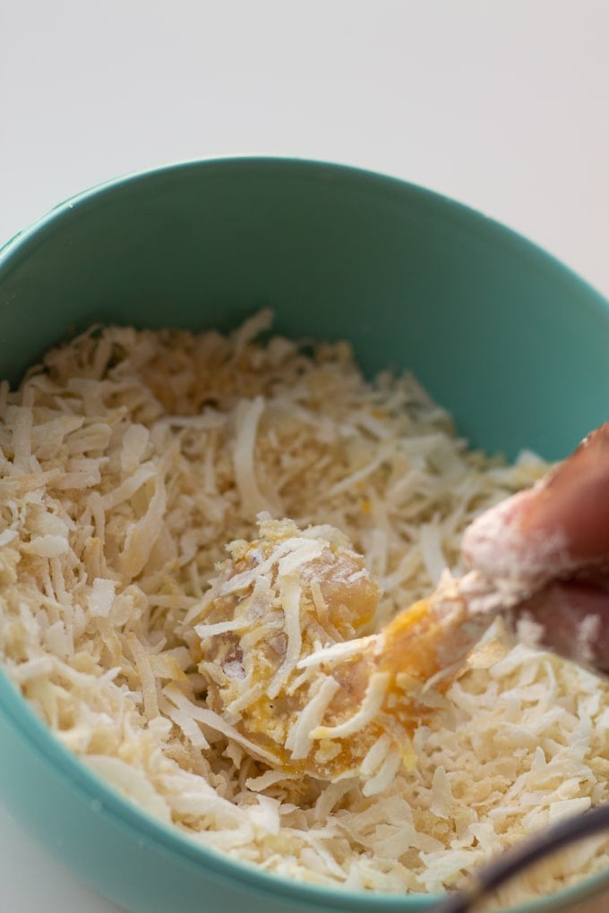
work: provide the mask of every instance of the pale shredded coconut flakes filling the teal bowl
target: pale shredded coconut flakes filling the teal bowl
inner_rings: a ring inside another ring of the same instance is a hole
[[[272,752],[260,760],[259,746],[253,753],[207,707],[196,637],[230,643],[234,629],[216,619],[195,637],[193,620],[205,616],[226,543],[251,539],[266,510],[312,524],[314,536],[349,536],[383,590],[359,632],[372,634],[429,593],[443,563],[461,572],[467,524],[548,467],[530,454],[509,467],[468,451],[412,377],[366,382],[344,342],[313,352],[259,343],[269,320],[262,312],[230,336],[98,328],[49,352],[18,391],[2,385],[3,666],[59,740],[195,841],[290,879],[453,887],[524,834],[609,799],[607,684],[512,647],[497,623],[416,730],[414,770],[400,770],[381,737],[363,761],[365,787],[324,783],[274,770]],[[255,583],[252,613],[268,595],[257,571],[231,582]],[[321,617],[328,606],[311,593]],[[284,671],[297,622],[273,640]],[[331,649],[324,661],[340,656]],[[237,653],[228,671],[245,674]],[[289,733],[296,753],[331,681]],[[506,899],[608,863],[609,841],[598,840]]]

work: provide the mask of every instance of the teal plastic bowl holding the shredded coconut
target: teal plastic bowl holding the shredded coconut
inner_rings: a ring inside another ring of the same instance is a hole
[[[609,415],[609,306],[537,247],[377,174],[275,159],[189,163],[58,206],[0,251],[0,376],[93,322],[227,329],[261,305],[291,336],[409,367],[476,446],[564,456]],[[64,750],[0,673],[0,793],[133,913],[418,913],[437,897],[311,887],[195,845]],[[571,909],[609,872],[519,913]],[[515,913],[516,908],[512,908]]]

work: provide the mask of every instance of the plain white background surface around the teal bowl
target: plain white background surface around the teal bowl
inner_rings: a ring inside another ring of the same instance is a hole
[[[273,152],[456,197],[609,296],[606,0],[0,0],[0,79],[0,241],[122,173]],[[0,807],[0,909],[116,908]]]

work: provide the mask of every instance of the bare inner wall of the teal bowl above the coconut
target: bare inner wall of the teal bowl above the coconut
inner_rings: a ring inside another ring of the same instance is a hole
[[[348,168],[236,160],[117,182],[5,250],[0,368],[95,321],[348,337],[412,368],[474,444],[559,457],[607,415],[609,312],[551,257],[463,206]],[[25,331],[24,328],[27,328]]]

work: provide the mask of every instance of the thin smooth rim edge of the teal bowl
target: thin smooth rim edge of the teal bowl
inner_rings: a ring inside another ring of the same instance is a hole
[[[549,269],[561,275],[574,288],[584,292],[588,303],[593,307],[606,309],[609,316],[609,302],[594,289],[585,279],[567,267],[557,257],[522,236],[514,229],[502,225],[494,218],[458,202],[445,194],[437,193],[418,184],[386,173],[361,168],[351,164],[326,162],[323,160],[291,157],[285,155],[226,155],[212,156],[203,159],[185,160],[164,164],[159,167],[127,173],[108,181],[95,184],[88,189],[69,196],[55,205],[46,215],[16,232],[0,247],[0,274],[10,272],[15,263],[25,259],[29,251],[44,240],[47,232],[52,232],[58,223],[71,217],[74,210],[86,209],[97,205],[100,200],[110,196],[124,187],[135,184],[154,183],[164,177],[187,171],[225,170],[227,174],[236,171],[291,172],[307,173],[311,179],[334,179],[343,182],[365,184],[368,191],[389,194],[404,198],[407,195],[418,197],[425,205],[443,210],[445,216],[456,219],[468,230],[490,232],[494,240],[499,240],[510,247],[518,257],[526,257],[541,269]],[[425,894],[412,892],[407,894],[365,892],[337,886],[325,886],[304,881],[290,881],[287,876],[268,872],[254,863],[236,858],[214,847],[199,843],[184,834],[178,827],[163,824],[152,814],[132,803],[115,790],[110,783],[92,771],[84,759],[68,750],[54,735],[52,730],[39,719],[35,710],[23,698],[17,687],[0,666],[0,709],[4,710],[12,725],[26,738],[29,747],[50,762],[56,774],[67,781],[70,787],[89,801],[99,799],[101,813],[111,815],[121,827],[142,836],[165,853],[177,856],[184,863],[200,868],[204,866],[210,876],[218,882],[234,882],[238,874],[242,883],[258,894],[284,897],[300,907],[323,905],[345,911],[362,911],[386,913],[407,911],[411,905],[418,908],[431,908],[445,895],[442,893]],[[609,887],[609,869],[585,877],[580,883],[562,888],[554,894],[525,901],[518,906],[505,908],[503,913],[557,913],[566,910],[575,903],[597,896],[603,888]]]

